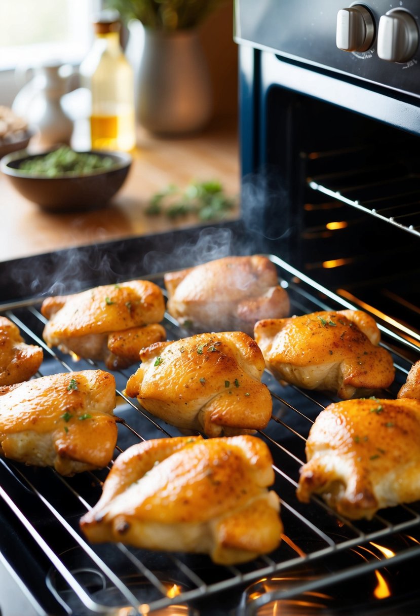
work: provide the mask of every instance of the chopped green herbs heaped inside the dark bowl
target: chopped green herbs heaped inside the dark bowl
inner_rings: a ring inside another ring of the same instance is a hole
[[[22,161],[18,169],[33,176],[86,176],[95,171],[110,169],[115,162],[110,156],[100,156],[92,152],[75,152],[62,147],[47,154],[34,156]]]

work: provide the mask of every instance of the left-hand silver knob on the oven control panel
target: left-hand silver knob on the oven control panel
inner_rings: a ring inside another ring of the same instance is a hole
[[[375,34],[373,17],[364,6],[355,4],[337,14],[336,43],[343,51],[370,49]]]

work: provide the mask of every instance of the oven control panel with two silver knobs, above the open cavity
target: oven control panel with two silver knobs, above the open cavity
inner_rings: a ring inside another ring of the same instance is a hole
[[[235,41],[420,98],[420,0],[235,0]]]

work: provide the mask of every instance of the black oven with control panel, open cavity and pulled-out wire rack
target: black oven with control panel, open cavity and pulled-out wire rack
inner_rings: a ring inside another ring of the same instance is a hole
[[[400,6],[418,25],[419,3]],[[385,395],[395,397],[420,359],[420,55],[416,47],[404,62],[378,57],[379,22],[392,7],[363,7],[373,39],[368,49],[345,52],[336,46],[341,2],[236,2],[240,220],[0,263],[1,312],[44,348],[39,375],[97,365],[44,344],[46,294],[135,277],[163,288],[168,270],[263,253],[288,289],[291,314],[350,307],[376,318],[397,369]],[[386,17],[389,32],[395,14]],[[339,20],[344,44],[352,18],[344,12]],[[383,55],[393,47],[381,36]],[[164,326],[169,339],[185,336],[168,314]],[[178,434],[124,397],[133,371],[115,373],[123,420],[116,456],[139,440]],[[320,498],[299,503],[305,439],[334,397],[283,387],[269,373],[263,380],[273,415],[258,436],[273,455],[285,525],[277,551],[221,567],[205,556],[92,546],[79,519],[108,469],[65,478],[1,459],[0,569],[19,606],[0,605],[3,616],[418,614],[420,503],[361,522],[337,516]]]

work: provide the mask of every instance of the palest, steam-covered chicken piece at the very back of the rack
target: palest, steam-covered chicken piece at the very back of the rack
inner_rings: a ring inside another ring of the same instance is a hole
[[[287,292],[267,257],[224,257],[166,274],[168,312],[195,332],[244,331],[289,314]]]

